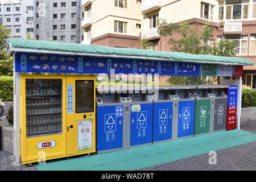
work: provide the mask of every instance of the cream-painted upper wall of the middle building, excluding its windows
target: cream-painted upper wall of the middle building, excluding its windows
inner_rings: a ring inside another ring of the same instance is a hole
[[[139,36],[141,29],[136,24],[141,24],[141,5],[137,0],[128,0],[127,9],[115,7],[114,0],[97,0],[92,2],[91,39],[105,34],[120,34]],[[85,12],[86,18],[86,12]],[[114,32],[114,21],[127,22],[127,33]],[[84,35],[84,38],[86,36]]]

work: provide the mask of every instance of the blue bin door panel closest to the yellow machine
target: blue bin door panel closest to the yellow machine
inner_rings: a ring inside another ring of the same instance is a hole
[[[97,107],[97,150],[123,147],[123,106]]]

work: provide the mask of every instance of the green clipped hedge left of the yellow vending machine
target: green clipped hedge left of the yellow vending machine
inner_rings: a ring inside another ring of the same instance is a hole
[[[13,77],[0,76],[0,99],[13,101]]]

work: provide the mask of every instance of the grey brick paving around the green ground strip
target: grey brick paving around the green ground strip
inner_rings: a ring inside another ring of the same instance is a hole
[[[241,130],[256,133],[256,121],[241,123]],[[139,171],[256,171],[256,142],[216,151],[217,164],[210,165],[208,154],[192,156]],[[63,159],[65,160],[65,159]],[[14,165],[14,156],[0,151],[0,171],[36,171],[36,166]]]

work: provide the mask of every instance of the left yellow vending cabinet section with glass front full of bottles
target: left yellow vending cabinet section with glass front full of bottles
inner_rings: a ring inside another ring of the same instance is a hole
[[[23,164],[66,155],[65,90],[65,76],[21,76]]]

